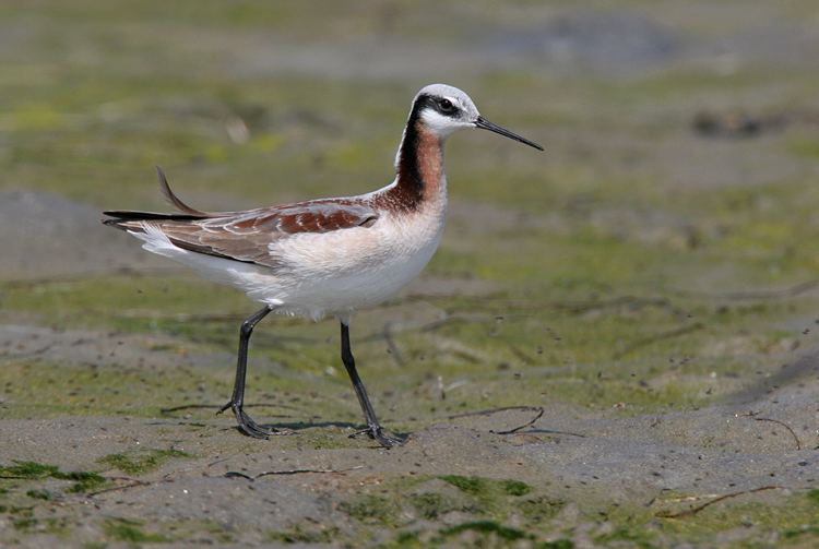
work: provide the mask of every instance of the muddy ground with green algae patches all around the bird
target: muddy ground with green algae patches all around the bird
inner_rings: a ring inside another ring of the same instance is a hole
[[[819,542],[810,2],[0,10],[0,545]],[[244,437],[254,305],[99,211],[167,207],[154,165],[212,210],[370,190],[439,80],[547,153],[454,136],[439,253],[354,319],[406,444],[351,437],[332,320],[259,326],[294,433]]]

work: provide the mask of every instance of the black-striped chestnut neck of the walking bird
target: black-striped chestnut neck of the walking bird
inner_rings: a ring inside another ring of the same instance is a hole
[[[446,202],[447,177],[443,171],[443,139],[411,116],[395,158],[394,192],[407,211],[425,204]]]

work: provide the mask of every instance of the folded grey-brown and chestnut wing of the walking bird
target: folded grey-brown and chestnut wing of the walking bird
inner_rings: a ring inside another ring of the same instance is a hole
[[[369,227],[378,213],[361,202],[320,200],[216,215],[205,219],[149,222],[179,248],[275,266],[270,244],[305,232]]]

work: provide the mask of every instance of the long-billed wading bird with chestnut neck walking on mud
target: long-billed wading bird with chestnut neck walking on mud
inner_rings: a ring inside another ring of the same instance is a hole
[[[248,347],[256,325],[271,312],[341,325],[341,359],[364,413],[366,433],[383,447],[405,439],[378,421],[349,343],[352,315],[397,294],[432,258],[447,214],[443,148],[450,135],[483,129],[538,151],[497,126],[461,89],[431,84],[413,98],[395,155],[394,180],[376,191],[240,212],[204,212],[175,194],[157,167],[159,186],[177,213],[106,211],[105,225],[124,230],[145,250],[176,260],[206,278],[244,290],[263,307],[239,330],[230,399],[238,429],[268,439],[292,431],[257,423],[245,410]]]

